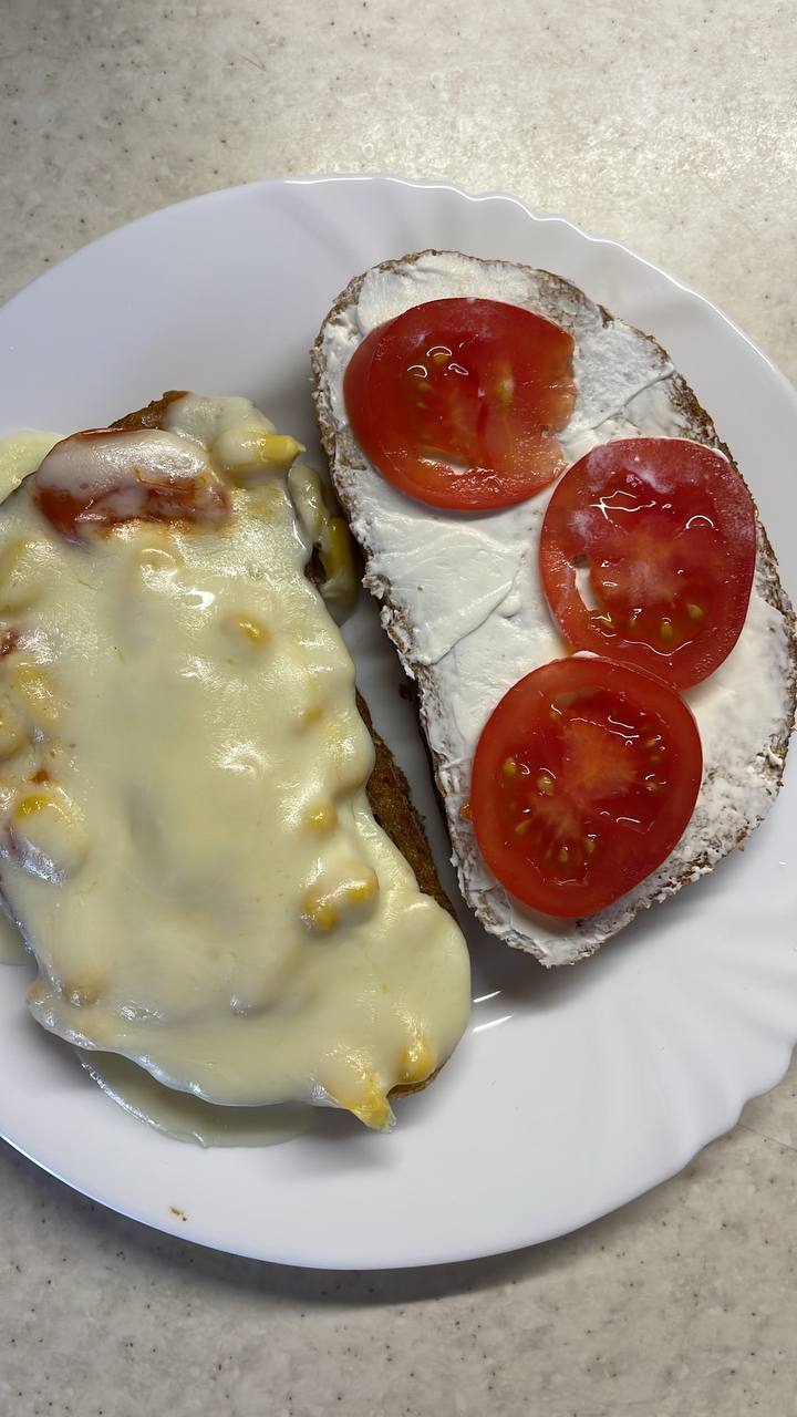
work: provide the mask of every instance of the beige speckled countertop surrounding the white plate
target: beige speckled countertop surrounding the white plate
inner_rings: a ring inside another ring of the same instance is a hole
[[[0,295],[194,193],[380,169],[617,237],[794,378],[796,54],[770,0],[6,0]],[[1,1149],[0,1413],[797,1414],[796,1080],[577,1236],[418,1272],[186,1248]]]

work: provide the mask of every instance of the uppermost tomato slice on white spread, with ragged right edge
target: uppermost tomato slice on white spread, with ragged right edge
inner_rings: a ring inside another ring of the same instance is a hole
[[[428,300],[379,326],[346,370],[346,411],[374,468],[435,507],[523,502],[564,458],[570,334],[501,300]]]

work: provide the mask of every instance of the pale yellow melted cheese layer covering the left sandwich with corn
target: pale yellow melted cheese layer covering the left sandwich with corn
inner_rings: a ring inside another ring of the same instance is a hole
[[[40,965],[30,1007],[208,1101],[333,1104],[386,1127],[390,1090],[465,1027],[465,945],[370,813],[352,660],[271,442],[251,475],[271,425],[194,397],[166,425],[140,435],[142,466],[159,444],[169,466],[176,441],[191,449],[204,492],[224,486],[223,524],[65,540],[38,475],[3,507],[0,703],[18,731],[1,884]],[[74,478],[62,449],[48,486]],[[106,459],[96,476],[105,496]]]

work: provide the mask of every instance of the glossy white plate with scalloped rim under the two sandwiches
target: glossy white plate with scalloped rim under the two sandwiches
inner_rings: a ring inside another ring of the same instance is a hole
[[[0,431],[72,431],[163,388],[251,395],[316,449],[308,346],[352,275],[421,247],[547,266],[655,334],[733,448],[797,589],[797,400],[716,309],[614,242],[506,197],[390,179],[272,181],[115,231],[0,312]],[[435,816],[370,608],[367,699]],[[791,774],[794,777],[794,774]],[[471,928],[472,1029],[391,1136],[326,1114],[262,1151],[128,1118],[28,1022],[0,971],[0,1128],[89,1196],[183,1238],[291,1264],[462,1260],[547,1240],[676,1172],[786,1071],[797,1037],[797,794],[745,854],[594,959],[546,973]],[[438,856],[445,859],[437,835]],[[450,879],[450,877],[447,877]],[[174,1209],[173,1209],[174,1207]]]

